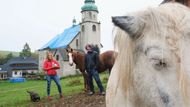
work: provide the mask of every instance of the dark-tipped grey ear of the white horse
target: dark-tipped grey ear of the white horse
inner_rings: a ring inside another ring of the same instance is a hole
[[[126,31],[132,38],[138,38],[144,29],[145,23],[133,16],[116,16],[112,17],[115,26]]]

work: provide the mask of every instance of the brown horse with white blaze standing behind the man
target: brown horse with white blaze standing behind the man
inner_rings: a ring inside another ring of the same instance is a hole
[[[73,50],[73,49],[67,49],[68,56],[69,56],[69,64],[72,66],[73,63],[76,64],[76,66],[81,71],[83,78],[84,78],[84,88],[85,90],[88,90],[88,78],[87,73],[85,72],[85,52],[81,50]],[[99,66],[98,66],[98,72],[104,72],[107,69],[109,72],[111,71],[113,64],[115,62],[115,55],[116,52],[114,51],[106,51],[99,55]]]

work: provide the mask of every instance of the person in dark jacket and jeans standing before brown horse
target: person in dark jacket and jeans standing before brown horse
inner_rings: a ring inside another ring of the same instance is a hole
[[[88,44],[86,45],[85,48],[87,50],[87,54],[85,55],[85,68],[88,73],[88,84],[90,86],[90,92],[88,94],[93,95],[95,92],[93,79],[92,79],[93,77],[99,87],[100,94],[105,95],[104,88],[102,86],[102,82],[100,80],[100,77],[97,71],[97,67],[99,63],[98,53],[92,50],[92,45]]]

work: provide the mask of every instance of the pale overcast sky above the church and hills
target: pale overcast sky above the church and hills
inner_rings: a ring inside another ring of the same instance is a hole
[[[103,51],[113,49],[111,16],[158,6],[162,0],[95,0],[101,22]],[[38,50],[54,36],[81,21],[84,0],[0,0],[0,50]]]

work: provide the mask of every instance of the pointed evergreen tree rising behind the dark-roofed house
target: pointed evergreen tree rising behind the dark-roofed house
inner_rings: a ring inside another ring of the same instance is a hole
[[[32,55],[31,49],[30,49],[28,43],[26,43],[24,45],[24,48],[22,49],[22,51],[19,54],[20,54],[19,55],[20,57],[30,57]]]

